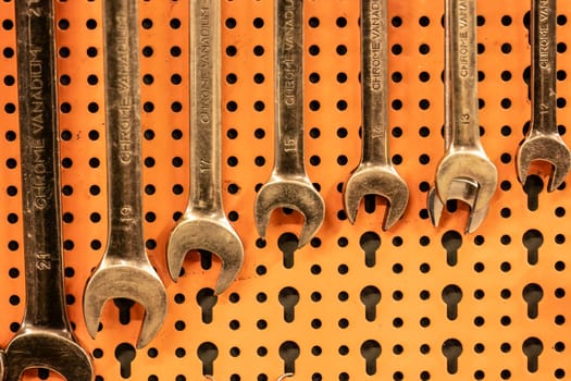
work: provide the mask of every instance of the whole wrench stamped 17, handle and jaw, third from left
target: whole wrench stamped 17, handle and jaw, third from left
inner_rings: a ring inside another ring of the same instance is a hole
[[[222,270],[216,294],[232,284],[244,262],[244,247],[224,214],[221,194],[220,8],[220,0],[190,1],[190,195],[166,250],[175,282],[189,250],[218,255]]]

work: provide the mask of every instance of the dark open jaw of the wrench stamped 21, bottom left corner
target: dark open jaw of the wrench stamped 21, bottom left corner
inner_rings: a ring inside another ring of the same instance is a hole
[[[67,332],[69,333],[69,332]],[[26,329],[5,349],[5,381],[18,381],[26,369],[47,368],[69,381],[94,380],[89,355],[74,341],[49,329]]]

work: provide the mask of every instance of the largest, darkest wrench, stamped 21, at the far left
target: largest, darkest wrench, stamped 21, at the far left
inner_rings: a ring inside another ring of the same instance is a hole
[[[5,349],[5,380],[29,368],[92,380],[65,312],[53,3],[16,1],[15,14],[26,309]]]

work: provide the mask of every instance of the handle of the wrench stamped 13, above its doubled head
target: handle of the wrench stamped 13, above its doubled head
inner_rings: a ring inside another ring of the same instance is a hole
[[[481,149],[475,0],[446,0],[445,22],[445,135],[451,147]]]

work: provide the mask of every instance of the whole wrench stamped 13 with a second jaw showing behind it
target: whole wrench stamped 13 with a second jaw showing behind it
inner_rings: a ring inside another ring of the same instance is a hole
[[[436,170],[437,197],[429,195],[429,211],[438,224],[448,200],[463,200],[470,206],[466,231],[473,232],[487,213],[498,177],[480,143],[475,0],[446,0],[445,23],[447,147]]]

